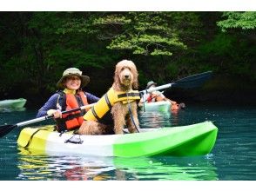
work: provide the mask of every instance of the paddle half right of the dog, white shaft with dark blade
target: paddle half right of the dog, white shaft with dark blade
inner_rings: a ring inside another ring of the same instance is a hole
[[[208,80],[212,76],[212,71],[203,72],[193,76],[187,76],[185,78],[181,78],[176,82],[167,83],[162,86],[154,87],[151,89],[145,89],[139,91],[140,94],[151,93],[153,91],[158,91],[160,89],[168,89],[171,87],[181,88],[181,89],[193,89],[201,86],[206,80]]]

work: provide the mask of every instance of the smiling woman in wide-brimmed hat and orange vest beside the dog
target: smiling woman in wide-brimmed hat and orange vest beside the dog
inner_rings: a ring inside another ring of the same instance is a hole
[[[63,76],[57,82],[57,88],[62,89],[51,95],[44,106],[38,110],[37,117],[54,115],[57,131],[79,128],[84,122],[86,110],[62,115],[61,111],[77,109],[84,105],[98,102],[98,96],[82,90],[90,82],[89,76],[82,76],[77,68],[64,70]]]

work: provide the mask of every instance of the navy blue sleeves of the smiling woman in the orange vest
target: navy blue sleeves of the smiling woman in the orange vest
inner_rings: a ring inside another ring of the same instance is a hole
[[[94,103],[94,102],[98,102],[99,98],[95,95],[92,95],[88,92],[84,92],[84,94],[87,97],[87,102],[89,104]],[[47,102],[44,103],[44,106],[38,110],[37,113],[37,117],[41,117],[41,116],[45,116],[47,115],[47,111],[50,109],[57,109],[57,98],[58,98],[59,94],[54,94],[51,95],[51,97],[49,98],[49,100]]]

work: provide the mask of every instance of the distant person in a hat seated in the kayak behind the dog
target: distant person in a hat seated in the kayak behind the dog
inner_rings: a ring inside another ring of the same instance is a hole
[[[147,83],[146,89],[155,88],[157,85],[156,82],[150,81]],[[142,97],[138,103],[138,106],[143,106],[144,102],[160,102],[160,101],[168,101],[171,102],[171,109],[178,110],[178,109],[185,109],[185,103],[177,103],[165,97],[165,95],[160,91],[153,91],[151,93],[147,93]]]

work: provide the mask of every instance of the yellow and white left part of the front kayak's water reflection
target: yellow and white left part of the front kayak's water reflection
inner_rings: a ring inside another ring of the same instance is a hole
[[[107,158],[106,158],[107,159]],[[79,155],[42,155],[20,148],[17,167],[20,180],[111,180],[104,172],[113,169],[110,160]]]

